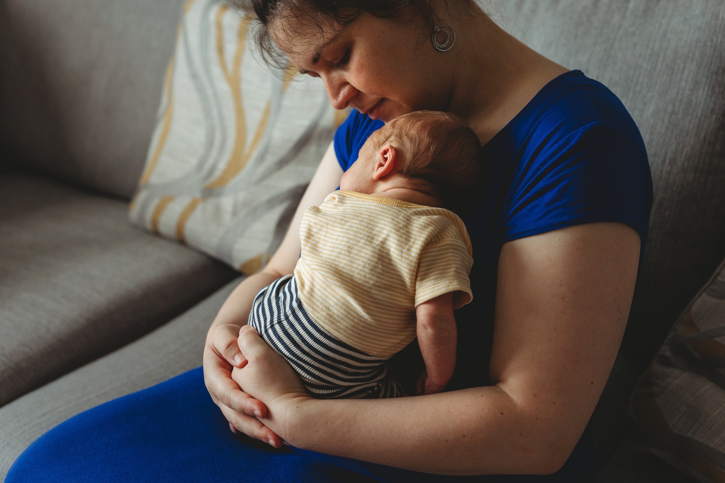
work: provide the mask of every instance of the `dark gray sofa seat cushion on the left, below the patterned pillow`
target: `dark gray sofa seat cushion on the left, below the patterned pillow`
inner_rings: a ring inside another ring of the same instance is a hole
[[[239,276],[133,227],[123,200],[20,172],[0,175],[0,232],[0,406]]]

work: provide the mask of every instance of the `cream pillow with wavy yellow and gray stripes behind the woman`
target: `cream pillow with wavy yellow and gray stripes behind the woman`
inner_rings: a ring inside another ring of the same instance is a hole
[[[129,207],[133,224],[246,274],[281,243],[347,116],[319,79],[266,66],[250,20],[224,1],[186,3]]]

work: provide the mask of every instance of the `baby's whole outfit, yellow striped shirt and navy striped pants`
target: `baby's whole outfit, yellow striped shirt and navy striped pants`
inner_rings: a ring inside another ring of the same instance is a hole
[[[471,240],[452,211],[338,190],[310,206],[294,274],[254,298],[249,325],[317,398],[392,398],[386,362],[415,339],[415,307],[471,302]]]

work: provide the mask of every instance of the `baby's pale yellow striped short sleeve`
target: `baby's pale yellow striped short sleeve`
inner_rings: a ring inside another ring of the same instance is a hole
[[[453,292],[453,308],[473,300],[468,274],[473,258],[468,246],[457,238],[444,238],[423,247],[415,276],[415,306]]]

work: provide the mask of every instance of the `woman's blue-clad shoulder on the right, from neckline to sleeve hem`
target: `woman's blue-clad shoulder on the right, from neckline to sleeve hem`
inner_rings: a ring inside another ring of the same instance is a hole
[[[630,224],[642,237],[653,201],[647,151],[619,98],[581,71],[537,94],[489,148],[508,176],[504,240],[595,221]]]

